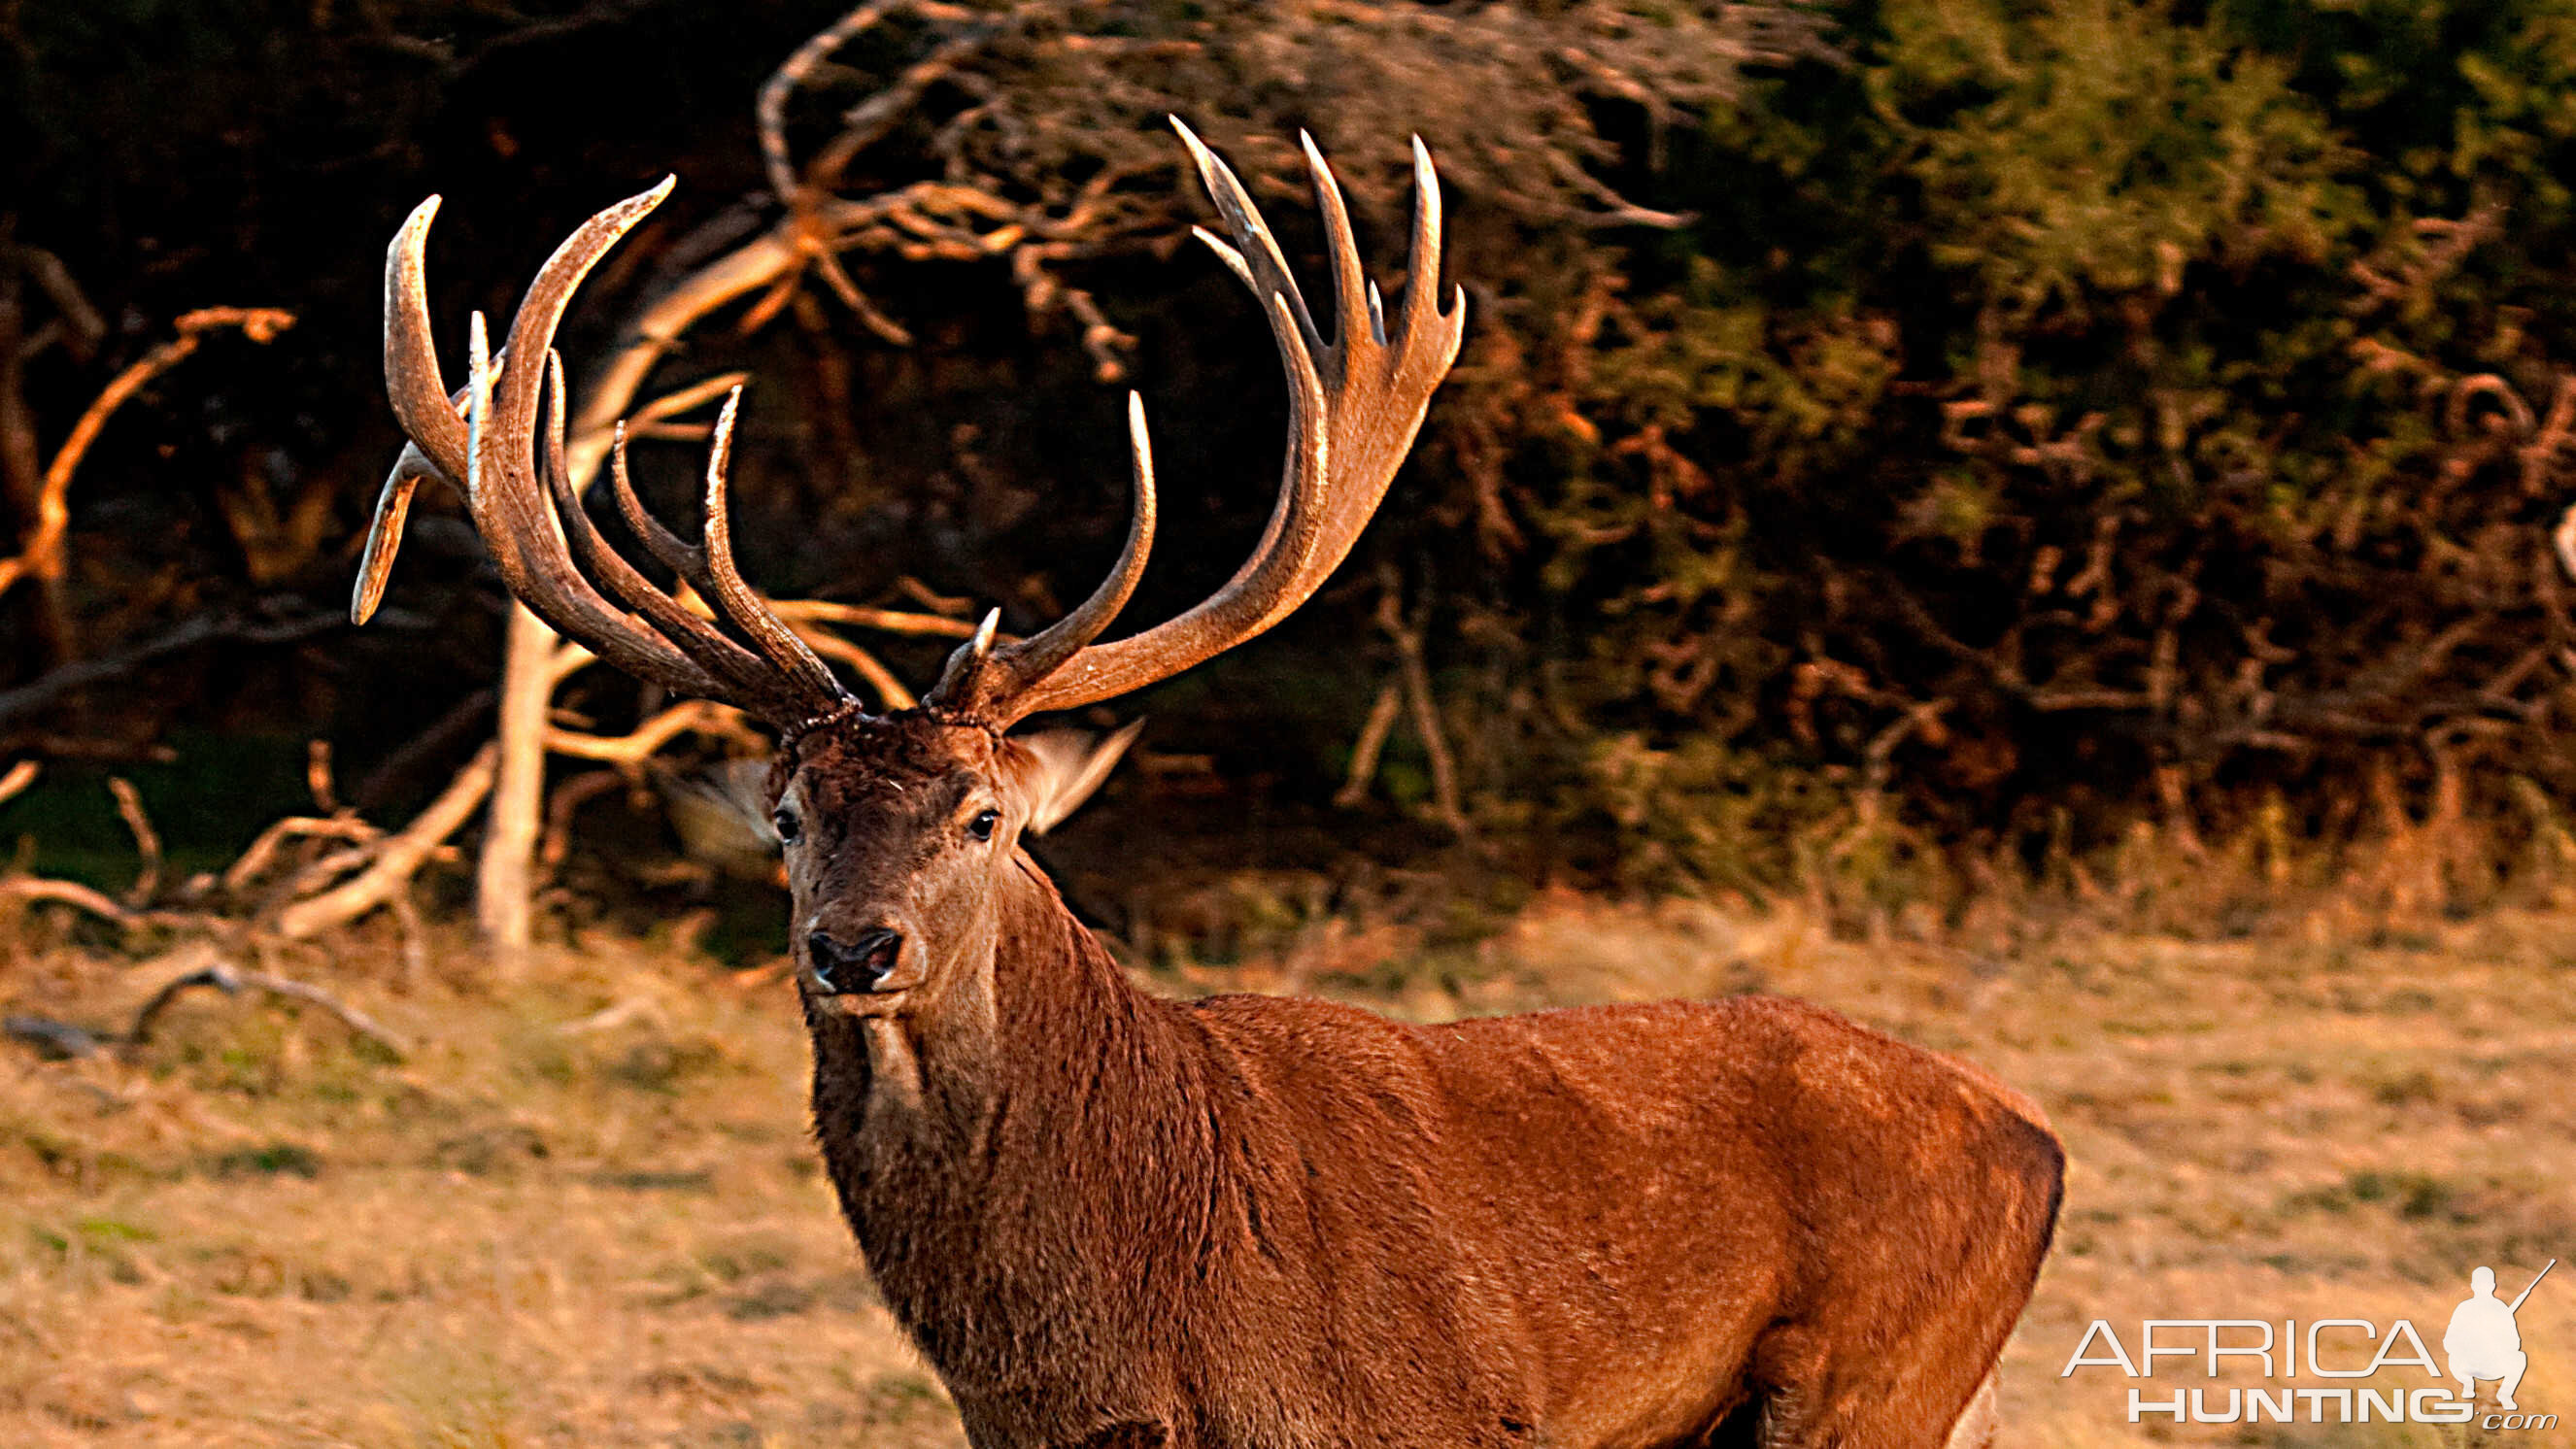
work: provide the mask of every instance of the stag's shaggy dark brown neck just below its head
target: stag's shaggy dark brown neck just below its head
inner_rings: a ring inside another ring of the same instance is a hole
[[[1157,1271],[1139,1253],[1188,1261],[1216,1174],[1206,1048],[1182,1014],[1128,986],[1033,865],[997,906],[989,999],[814,1022],[814,1127],[842,1212],[953,1387],[1043,1361],[1028,1333],[1136,1302]]]

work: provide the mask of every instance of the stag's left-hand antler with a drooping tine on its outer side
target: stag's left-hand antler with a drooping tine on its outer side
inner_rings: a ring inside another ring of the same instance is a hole
[[[706,463],[706,543],[688,546],[644,520],[626,484],[626,438],[618,435],[618,504],[644,543],[703,595],[744,638],[744,649],[714,623],[698,618],[672,595],[634,571],[598,535],[572,489],[564,445],[564,365],[554,353],[554,329],[572,304],[582,275],[654,206],[670,196],[670,180],[631,196],[585,221],[536,273],[528,296],[510,322],[500,358],[489,355],[484,319],[477,311],[469,335],[471,376],[464,391],[448,394],[430,342],[430,304],[422,275],[422,250],[438,198],[422,201],[384,260],[384,383],[394,417],[412,438],[384,479],[376,522],[366,535],[366,561],[350,618],[366,623],[384,597],[384,579],[402,543],[402,520],[420,479],[446,479],[466,497],[474,530],[502,582],[538,618],[580,641],[608,664],[662,685],[677,695],[698,695],[737,705],[778,726],[796,726],[848,703],[840,682],[778,620],[734,569],[724,510],[724,468],[732,456],[734,409],[742,389],[724,404]],[[538,365],[544,358],[544,365]],[[546,404],[546,430],[538,438],[538,401]],[[569,540],[569,548],[567,548]],[[608,587],[626,610],[613,607],[574,566],[574,556]]]

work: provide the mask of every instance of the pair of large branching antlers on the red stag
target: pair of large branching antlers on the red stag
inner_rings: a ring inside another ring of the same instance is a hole
[[[1270,510],[1270,528],[1234,579],[1198,607],[1133,638],[1095,646],[1100,631],[1136,592],[1154,543],[1154,458],[1144,404],[1128,396],[1136,512],[1126,551],[1092,597],[1043,633],[997,649],[987,620],[976,638],[948,659],[938,687],[922,700],[945,715],[1007,728],[1038,710],[1108,700],[1167,679],[1288,618],[1350,553],[1412,448],[1432,391],[1458,358],[1466,291],[1458,291],[1455,306],[1440,311],[1440,180],[1419,139],[1414,239],[1394,335],[1378,288],[1360,273],[1342,188],[1306,139],[1306,167],[1314,172],[1332,250],[1334,340],[1327,345],[1242,183],[1188,126],[1177,118],[1172,126],[1190,147],[1200,180],[1216,198],[1226,229],[1234,232],[1234,245],[1206,229],[1195,232],[1262,301],[1288,371],[1288,466],[1278,507]],[[721,700],[793,728],[848,708],[850,697],[734,569],[724,466],[742,389],[724,404],[706,466],[706,543],[683,543],[636,502],[626,479],[623,430],[611,476],[618,510],[636,538],[698,589],[750,646],[626,564],[582,512],[567,474],[564,365],[551,347],[554,329],[582,275],[665,196],[670,180],[600,211],[556,247],[528,283],[500,358],[489,355],[484,319],[477,314],[469,337],[471,378],[453,396],[438,373],[422,283],[422,247],[438,198],[422,201],[402,224],[384,270],[384,376],[394,414],[412,445],[402,450],[376,499],[350,618],[366,623],[376,610],[412,489],[420,479],[438,476],[464,492],[474,528],[510,592],[559,633],[672,692]],[[536,358],[546,365],[538,368]],[[538,435],[538,401],[546,407],[544,435]],[[634,613],[600,597],[585,569]]]

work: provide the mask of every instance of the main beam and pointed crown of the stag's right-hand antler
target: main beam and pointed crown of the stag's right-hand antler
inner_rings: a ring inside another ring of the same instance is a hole
[[[1383,304],[1360,268],[1340,183],[1314,142],[1306,142],[1334,281],[1334,340],[1324,345],[1270,226],[1242,183],[1180,118],[1172,129],[1180,131],[1208,196],[1226,219],[1231,245],[1206,229],[1198,234],[1262,304],[1288,376],[1288,463],[1270,525],[1234,579],[1185,615],[1115,643],[1077,649],[1051,672],[1025,674],[1025,682],[969,682],[976,672],[958,677],[951,664],[953,679],[933,690],[925,700],[930,705],[1007,726],[1041,710],[1066,710],[1141,690],[1288,618],[1350,553],[1412,448],[1432,391],[1458,360],[1466,337],[1466,291],[1458,291],[1450,311],[1440,311],[1440,178],[1419,139],[1414,139],[1412,255],[1394,337],[1386,335]],[[1144,476],[1151,463],[1141,456],[1141,427],[1136,443]]]

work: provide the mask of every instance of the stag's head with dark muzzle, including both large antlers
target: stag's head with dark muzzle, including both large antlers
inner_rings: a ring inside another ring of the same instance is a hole
[[[582,275],[662,203],[667,180],[600,211],[546,260],[500,355],[477,314],[469,378],[453,394],[438,371],[422,281],[438,198],[412,211],[386,257],[384,288],[386,389],[412,445],[376,502],[353,618],[363,623],[384,595],[417,481],[448,481],[466,497],[502,582],[538,618],[626,674],[778,728],[768,795],[788,862],[799,981],[814,1009],[876,1017],[974,996],[989,983],[1002,885],[1033,870],[1020,836],[1043,831],[1115,759],[1113,749],[1043,749],[1007,731],[1043,710],[1167,679],[1306,602],[1386,497],[1466,329],[1463,291],[1440,309],[1440,188],[1419,142],[1412,257],[1394,311],[1363,275],[1332,170],[1306,144],[1332,257],[1327,342],[1242,183],[1188,126],[1175,126],[1231,242],[1206,229],[1198,237],[1262,304],[1291,399],[1270,528],[1234,579],[1180,618],[1097,641],[1136,589],[1154,538],[1154,463],[1133,394],[1136,512],[1108,579],[1028,638],[999,641],[997,615],[987,615],[914,708],[866,710],[734,569],[724,474],[739,389],[716,422],[701,543],[644,512],[626,476],[623,430],[613,448],[626,525],[706,613],[618,556],[572,481],[564,368],[551,342]]]

